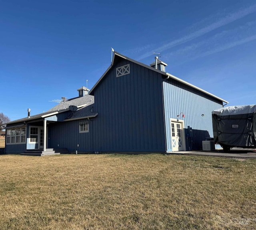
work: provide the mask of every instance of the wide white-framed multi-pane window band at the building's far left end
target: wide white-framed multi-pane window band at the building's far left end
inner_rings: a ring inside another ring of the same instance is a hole
[[[24,144],[26,142],[26,127],[6,130],[6,144]]]

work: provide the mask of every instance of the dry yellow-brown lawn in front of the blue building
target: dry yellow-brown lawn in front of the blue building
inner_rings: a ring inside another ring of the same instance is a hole
[[[1,230],[256,229],[256,161],[0,155]]]

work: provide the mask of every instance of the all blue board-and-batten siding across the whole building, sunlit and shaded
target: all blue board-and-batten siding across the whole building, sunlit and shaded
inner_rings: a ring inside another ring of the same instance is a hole
[[[123,69],[117,77],[117,68],[126,65],[129,71]],[[164,72],[115,55],[111,68],[90,92],[94,96],[91,112],[97,113],[96,117],[67,120],[71,111],[38,116],[26,122],[26,138],[30,126],[44,127],[46,120],[47,148],[80,153],[166,152],[172,151],[170,119],[183,112],[186,117],[179,119],[184,120],[186,150],[201,149],[202,141],[213,137],[212,110],[222,108],[222,101],[166,78]],[[85,121],[89,132],[80,133],[79,122]],[[26,147],[38,146],[11,144],[6,145],[6,152],[21,153]]]

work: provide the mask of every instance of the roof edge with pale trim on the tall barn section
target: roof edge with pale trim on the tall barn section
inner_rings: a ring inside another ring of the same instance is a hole
[[[114,57],[113,57],[113,59],[112,59],[112,63],[111,63],[111,65],[110,65],[110,67],[108,67],[108,69],[105,71],[105,73],[100,77],[100,79],[99,79],[99,80],[96,82],[96,84],[92,87],[92,89],[90,90],[89,94],[92,94],[92,95],[93,95],[95,88],[97,88],[97,86],[98,86],[98,84],[100,83],[100,81],[102,81],[102,79],[106,76],[106,74],[108,73],[108,71],[110,71],[110,69],[111,69],[112,66],[114,65],[114,60],[115,60],[115,57],[116,57],[116,56],[117,56],[117,57],[121,57],[121,58],[123,58],[123,59],[126,59],[126,60],[128,60],[128,61],[131,61],[131,62],[133,62],[133,63],[136,63],[136,64],[138,64],[138,65],[141,65],[141,66],[143,66],[143,67],[145,67],[145,68],[147,68],[147,69],[156,71],[157,73],[160,73],[160,74],[164,75],[164,76],[166,77],[166,79],[169,79],[169,78],[174,79],[174,80],[176,80],[176,81],[179,81],[179,82],[183,83],[184,85],[188,85],[188,86],[190,86],[190,87],[192,87],[192,88],[195,88],[196,90],[199,90],[199,91],[201,91],[201,92],[204,92],[205,94],[208,94],[208,95],[210,95],[210,96],[212,96],[212,97],[214,97],[214,98],[216,98],[216,99],[218,99],[218,100],[220,100],[220,101],[222,101],[222,102],[229,103],[228,101],[226,101],[226,100],[224,100],[224,99],[222,99],[222,98],[220,98],[220,97],[218,97],[218,96],[216,96],[216,95],[214,95],[214,94],[212,94],[212,93],[210,93],[210,92],[207,92],[206,90],[203,90],[202,88],[199,88],[199,87],[197,87],[197,86],[195,86],[195,85],[192,85],[192,84],[190,84],[190,83],[188,83],[188,82],[186,82],[186,81],[184,81],[184,80],[182,80],[182,79],[180,79],[180,78],[178,78],[178,77],[175,77],[174,75],[172,75],[172,74],[170,74],[170,73],[165,73],[165,72],[163,72],[163,71],[160,71],[159,69],[155,69],[155,68],[153,68],[153,67],[151,67],[151,66],[149,66],[149,65],[145,65],[145,64],[143,64],[143,63],[141,63],[141,62],[135,61],[134,59],[131,59],[131,58],[129,58],[129,57],[126,57],[126,56],[124,56],[124,55],[122,55],[122,54],[120,54],[120,53],[118,53],[118,52],[116,52],[116,51],[114,51]]]

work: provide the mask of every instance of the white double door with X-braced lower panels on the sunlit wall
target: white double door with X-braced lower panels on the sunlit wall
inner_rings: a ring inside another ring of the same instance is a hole
[[[184,122],[171,120],[171,140],[172,140],[172,151],[184,151]]]

